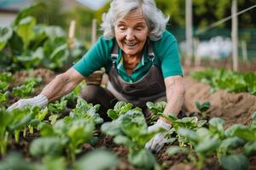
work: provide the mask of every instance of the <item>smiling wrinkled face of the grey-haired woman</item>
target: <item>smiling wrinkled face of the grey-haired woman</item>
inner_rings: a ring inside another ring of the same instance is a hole
[[[117,20],[114,26],[114,35],[119,48],[126,55],[139,57],[143,53],[148,34],[149,29],[140,9],[133,10],[124,18]]]

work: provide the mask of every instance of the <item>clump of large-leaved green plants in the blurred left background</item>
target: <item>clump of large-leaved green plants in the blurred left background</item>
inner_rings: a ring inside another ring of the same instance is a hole
[[[0,63],[6,70],[38,66],[56,70],[84,54],[84,44],[78,40],[73,48],[68,47],[68,38],[60,26],[37,24],[32,12],[38,6],[24,8],[11,26],[0,28]]]

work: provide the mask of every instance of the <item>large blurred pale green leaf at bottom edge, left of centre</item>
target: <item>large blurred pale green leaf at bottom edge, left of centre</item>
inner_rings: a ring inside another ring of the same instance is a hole
[[[90,151],[76,163],[75,170],[104,170],[116,167],[119,159],[108,150]]]

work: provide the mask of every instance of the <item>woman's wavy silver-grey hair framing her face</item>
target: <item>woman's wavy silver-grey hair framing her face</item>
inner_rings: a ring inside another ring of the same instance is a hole
[[[125,17],[134,9],[141,9],[143,16],[150,29],[149,38],[157,41],[166,30],[166,23],[169,16],[165,16],[159,8],[156,7],[154,0],[113,0],[107,14],[102,14],[103,36],[111,39],[114,37],[114,26],[116,20]]]

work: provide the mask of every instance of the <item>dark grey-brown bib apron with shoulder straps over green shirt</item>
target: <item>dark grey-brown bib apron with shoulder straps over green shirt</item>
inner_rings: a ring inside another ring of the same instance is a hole
[[[147,41],[148,59],[152,62],[148,73],[137,82],[131,83],[125,82],[117,73],[116,59],[119,56],[119,46],[115,39],[113,41],[113,50],[111,54],[113,65],[108,72],[108,78],[113,88],[126,99],[126,102],[144,108],[146,102],[154,101],[155,99],[166,96],[164,77],[160,69],[154,65],[152,42],[150,40]]]

